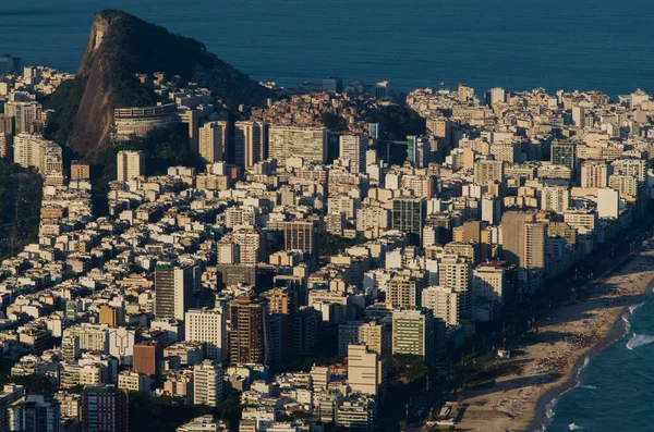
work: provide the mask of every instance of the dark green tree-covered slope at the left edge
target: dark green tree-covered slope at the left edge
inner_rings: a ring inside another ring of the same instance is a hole
[[[43,184],[36,170],[0,159],[0,257],[38,237]]]

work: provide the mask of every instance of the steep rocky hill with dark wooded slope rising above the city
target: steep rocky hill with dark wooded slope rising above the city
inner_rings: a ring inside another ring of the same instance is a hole
[[[116,108],[159,100],[136,77],[155,72],[209,88],[228,109],[259,104],[271,96],[269,89],[207,52],[202,42],[129,13],[104,10],[95,15],[75,79],[60,86],[47,107],[59,111],[58,140],[90,159],[101,155]]]

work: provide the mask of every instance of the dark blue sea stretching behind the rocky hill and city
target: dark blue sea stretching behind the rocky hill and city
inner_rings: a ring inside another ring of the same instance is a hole
[[[0,52],[74,71],[102,8],[281,85],[338,75],[403,90],[654,91],[651,0],[0,0]]]

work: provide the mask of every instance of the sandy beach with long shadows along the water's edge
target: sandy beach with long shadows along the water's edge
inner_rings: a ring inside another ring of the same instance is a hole
[[[467,431],[536,431],[547,421],[552,400],[577,385],[588,356],[623,332],[622,313],[641,300],[654,280],[654,251],[630,258],[604,276],[590,296],[565,305],[524,338],[510,360],[516,372],[498,377],[493,387],[468,391],[458,428]]]

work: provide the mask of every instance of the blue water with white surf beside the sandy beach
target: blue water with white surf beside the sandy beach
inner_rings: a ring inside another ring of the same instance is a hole
[[[549,407],[546,432],[653,431],[654,297],[629,308],[626,334],[590,357],[577,387]]]

